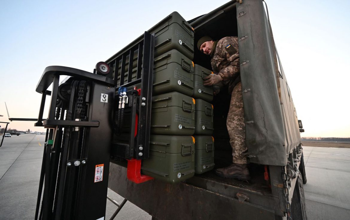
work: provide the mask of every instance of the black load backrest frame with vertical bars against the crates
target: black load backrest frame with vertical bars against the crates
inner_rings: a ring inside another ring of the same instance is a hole
[[[132,81],[132,66],[135,51],[138,50],[136,79]],[[126,56],[129,56],[128,78],[125,79]],[[121,158],[147,159],[149,158],[149,134],[151,129],[151,104],[152,104],[152,81],[153,81],[153,60],[154,60],[154,34],[145,32],[144,40],[131,47],[116,59],[109,62],[111,69],[114,67],[114,80],[118,80],[119,62],[120,87],[130,88],[141,83],[141,94],[138,96],[133,89],[127,92],[131,111],[131,126],[128,130],[128,144],[113,143],[112,154]],[[142,67],[142,74],[141,74]],[[138,115],[137,139],[135,141],[136,114]]]

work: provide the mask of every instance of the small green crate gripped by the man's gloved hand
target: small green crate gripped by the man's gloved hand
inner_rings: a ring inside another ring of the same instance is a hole
[[[213,74],[209,69],[206,69],[198,64],[194,65],[194,86],[193,97],[203,99],[205,101],[213,100],[213,87],[203,85],[204,78]]]

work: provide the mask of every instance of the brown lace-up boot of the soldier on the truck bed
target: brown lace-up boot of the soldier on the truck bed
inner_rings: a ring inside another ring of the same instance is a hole
[[[249,170],[247,164],[231,164],[228,167],[216,169],[215,173],[218,176],[238,179],[238,180],[250,180]]]

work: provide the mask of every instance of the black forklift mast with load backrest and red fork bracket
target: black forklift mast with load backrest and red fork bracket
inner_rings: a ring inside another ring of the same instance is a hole
[[[116,85],[115,63],[121,61],[120,77],[124,78],[126,55],[136,50],[136,79],[132,81],[129,68],[127,83]],[[111,145],[123,121],[121,106],[133,114],[133,136],[127,144],[113,145],[119,146],[118,155],[130,162],[134,182],[151,179],[141,175],[140,168],[141,159],[149,157],[153,52],[154,35],[145,32],[138,45],[116,58],[115,63],[97,63],[93,73],[62,66],[45,68],[36,87],[42,100],[35,126],[47,128],[47,133],[35,219],[105,218]],[[113,67],[114,74],[110,74]],[[70,77],[60,84],[63,75]],[[141,83],[138,90],[133,87],[137,83]],[[48,91],[51,84],[52,91]],[[116,95],[116,91],[120,93]],[[47,95],[51,95],[49,115],[42,120]],[[119,101],[123,103],[119,105]]]

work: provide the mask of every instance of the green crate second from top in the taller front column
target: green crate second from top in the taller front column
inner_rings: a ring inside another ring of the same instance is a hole
[[[153,94],[177,91],[193,94],[193,62],[177,50],[158,56],[153,63]]]

